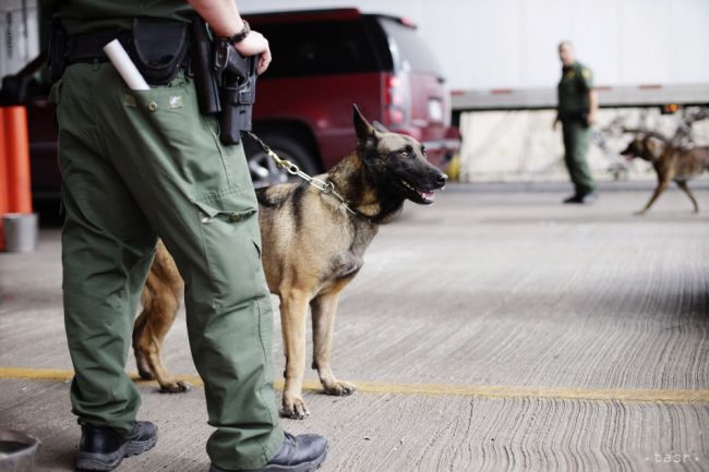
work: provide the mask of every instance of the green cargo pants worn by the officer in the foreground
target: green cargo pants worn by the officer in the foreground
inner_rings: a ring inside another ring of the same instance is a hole
[[[169,86],[130,92],[112,65],[75,64],[51,95],[74,414],[123,434],[135,421],[140,397],[124,366],[159,237],[185,282],[190,348],[217,428],[207,452],[223,469],[262,468],[284,436],[243,148],[220,144],[218,123],[200,114],[183,74]]]

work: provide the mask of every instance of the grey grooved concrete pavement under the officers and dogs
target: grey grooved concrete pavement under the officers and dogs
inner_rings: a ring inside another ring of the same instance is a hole
[[[309,390],[311,417],[286,428],[327,435],[325,472],[709,470],[706,183],[699,215],[671,190],[633,216],[651,185],[590,207],[467,185],[407,204],[340,303],[334,368],[362,389]],[[0,427],[41,438],[40,471],[72,470],[79,439],[59,250],[47,230],[0,254]],[[191,377],[183,322],[165,360]],[[160,439],[119,470],[206,471],[202,388],[140,388]]]

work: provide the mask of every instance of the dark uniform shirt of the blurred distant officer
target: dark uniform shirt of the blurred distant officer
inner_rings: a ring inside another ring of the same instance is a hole
[[[593,73],[586,65],[574,62],[563,66],[557,87],[560,120],[584,120],[589,110],[588,93],[592,88]]]

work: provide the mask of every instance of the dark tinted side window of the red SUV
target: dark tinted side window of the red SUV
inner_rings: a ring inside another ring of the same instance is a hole
[[[263,23],[274,57],[265,78],[377,71],[361,21]]]

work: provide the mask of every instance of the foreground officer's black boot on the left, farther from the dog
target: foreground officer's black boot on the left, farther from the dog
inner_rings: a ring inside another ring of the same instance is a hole
[[[110,427],[82,424],[76,469],[111,471],[124,457],[145,452],[156,443],[157,427],[148,421],[136,421],[125,437]]]

